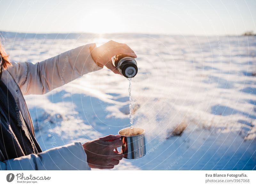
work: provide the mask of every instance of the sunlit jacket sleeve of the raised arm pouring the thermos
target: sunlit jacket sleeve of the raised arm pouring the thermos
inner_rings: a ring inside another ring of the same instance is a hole
[[[12,62],[8,71],[23,94],[45,94],[84,74],[102,69],[91,56],[95,47],[95,43],[80,46],[36,64]]]

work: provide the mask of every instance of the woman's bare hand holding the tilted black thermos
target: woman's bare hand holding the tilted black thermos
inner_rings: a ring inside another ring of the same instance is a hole
[[[126,54],[133,58],[137,58],[134,51],[127,44],[117,43],[115,41],[109,41],[108,43],[105,43],[91,51],[92,59],[98,66],[106,66],[115,74],[120,73],[113,65],[111,58],[119,54]]]

